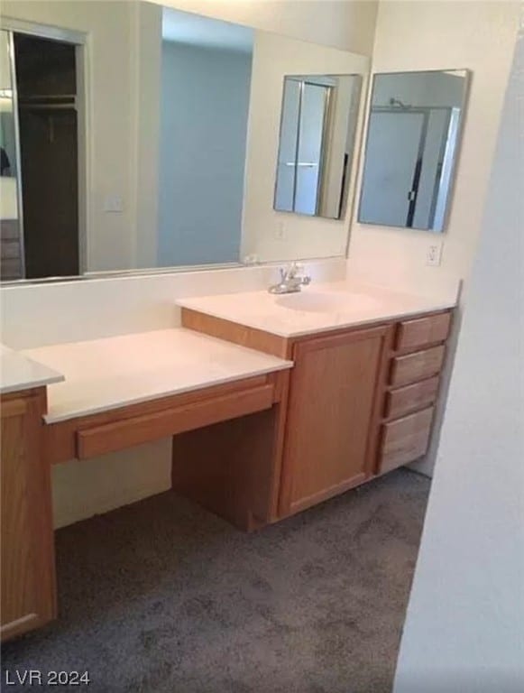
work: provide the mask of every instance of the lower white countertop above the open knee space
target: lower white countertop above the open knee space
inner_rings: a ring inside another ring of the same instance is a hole
[[[65,382],[48,389],[48,423],[293,365],[184,328],[28,349],[21,354],[65,375]]]

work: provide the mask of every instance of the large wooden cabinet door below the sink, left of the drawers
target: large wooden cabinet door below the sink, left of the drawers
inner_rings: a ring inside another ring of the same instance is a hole
[[[371,476],[389,337],[391,328],[368,328],[295,346],[280,516]]]

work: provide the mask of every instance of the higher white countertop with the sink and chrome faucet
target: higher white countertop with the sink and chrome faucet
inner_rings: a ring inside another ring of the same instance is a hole
[[[326,309],[333,298],[333,307]],[[299,308],[290,308],[295,302]],[[280,337],[299,337],[331,329],[349,328],[417,313],[446,310],[456,300],[415,296],[362,283],[312,283],[299,293],[249,291],[177,300],[177,305],[261,329]],[[286,306],[287,304],[287,306]],[[302,305],[301,305],[302,304]],[[311,310],[313,309],[313,310]]]

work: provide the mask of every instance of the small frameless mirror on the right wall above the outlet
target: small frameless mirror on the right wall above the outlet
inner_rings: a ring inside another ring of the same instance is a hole
[[[468,76],[465,69],[374,76],[359,222],[445,229]]]

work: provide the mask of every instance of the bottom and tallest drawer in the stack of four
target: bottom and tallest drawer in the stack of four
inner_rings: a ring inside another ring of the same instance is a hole
[[[379,473],[407,465],[427,450],[433,407],[382,425]]]

